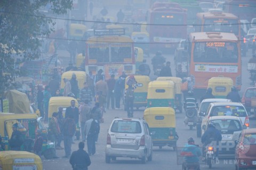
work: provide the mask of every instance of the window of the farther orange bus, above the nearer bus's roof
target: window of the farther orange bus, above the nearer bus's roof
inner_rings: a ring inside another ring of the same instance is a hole
[[[237,19],[205,19],[205,32],[224,32],[239,34],[239,25]]]

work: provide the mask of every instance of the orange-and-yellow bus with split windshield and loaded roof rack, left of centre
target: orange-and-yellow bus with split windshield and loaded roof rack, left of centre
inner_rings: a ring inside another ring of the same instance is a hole
[[[123,28],[95,29],[94,36],[86,41],[85,70],[97,74],[103,70],[106,79],[116,78],[125,71],[126,75],[135,74],[134,43],[125,36]]]

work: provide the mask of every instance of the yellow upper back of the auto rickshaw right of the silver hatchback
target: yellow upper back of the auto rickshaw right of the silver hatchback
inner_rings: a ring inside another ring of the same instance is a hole
[[[153,107],[144,111],[144,119],[149,127],[174,127],[176,126],[175,111],[170,107]]]

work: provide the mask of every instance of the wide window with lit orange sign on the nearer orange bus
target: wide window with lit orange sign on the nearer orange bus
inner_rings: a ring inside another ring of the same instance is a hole
[[[194,62],[237,63],[237,43],[198,42],[194,47]]]

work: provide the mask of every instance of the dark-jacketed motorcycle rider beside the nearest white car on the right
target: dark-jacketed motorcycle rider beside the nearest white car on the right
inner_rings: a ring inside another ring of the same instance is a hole
[[[219,145],[219,141],[222,140],[222,136],[220,131],[215,128],[215,124],[213,122],[210,122],[208,124],[208,128],[204,132],[201,142],[203,143],[202,151],[203,151],[203,156],[205,157],[205,147],[207,144],[211,143],[212,141],[216,141],[217,146]],[[219,153],[219,148],[217,147],[215,156],[217,157]],[[203,158],[204,160],[204,158]]]

